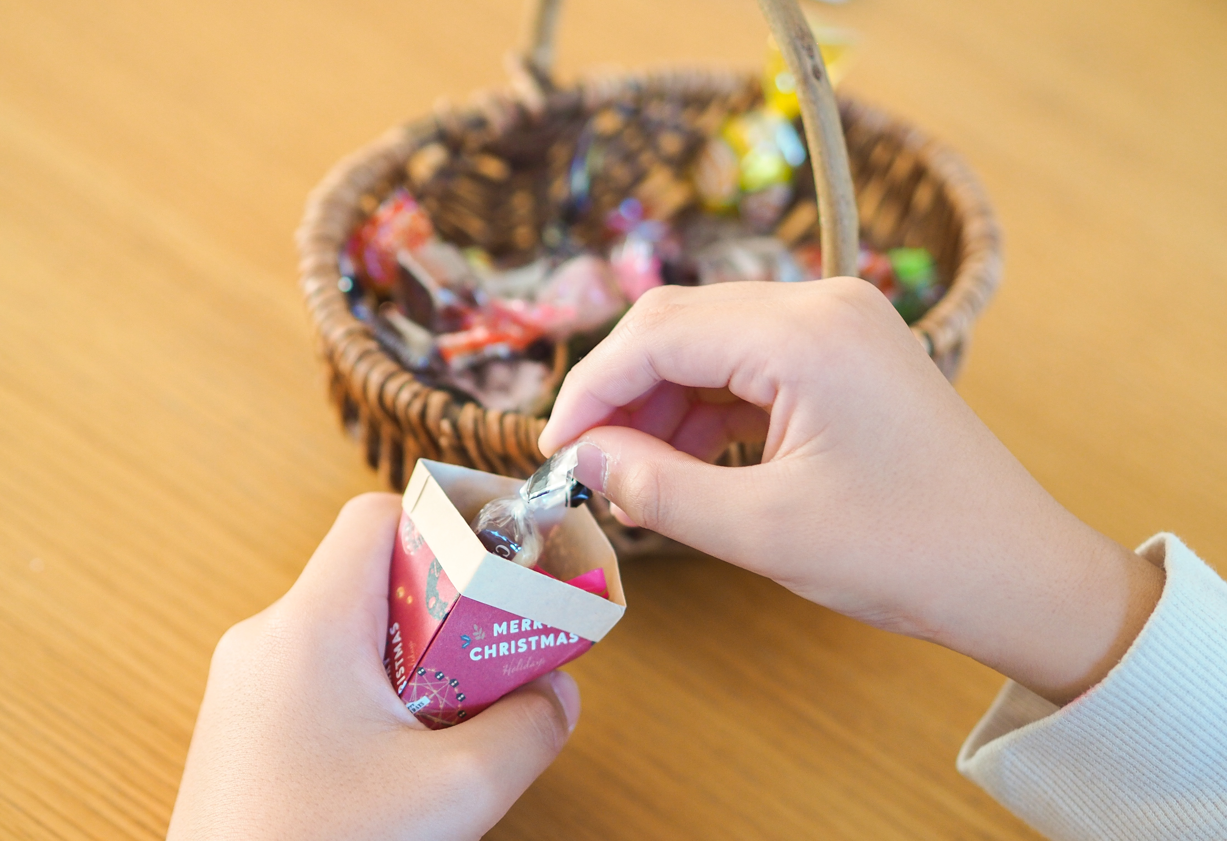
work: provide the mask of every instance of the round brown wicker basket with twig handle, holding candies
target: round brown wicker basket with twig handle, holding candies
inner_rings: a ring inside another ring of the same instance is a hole
[[[799,98],[822,253],[834,255],[825,260],[829,273],[855,273],[858,235],[880,248],[928,248],[950,284],[913,331],[953,378],[972,322],[1000,276],[999,230],[983,191],[953,152],[917,130],[848,98],[837,104],[796,0],[760,5],[794,77],[804,80]],[[367,461],[391,488],[404,487],[418,457],[528,476],[542,460],[536,439],[545,420],[461,403],[423,385],[350,313],[337,287],[337,255],[380,199],[409,181],[444,238],[501,253],[530,251],[550,210],[551,161],[566,157],[551,157],[550,150],[566,150],[594,113],[611,103],[631,103],[644,113],[656,102],[685,104],[676,125],[649,127],[643,154],[621,174],[621,186],[631,189],[676,175],[687,131],[702,132],[710,114],[748,108],[761,96],[753,76],[734,71],[590,77],[556,87],[550,63],[557,11],[558,0],[541,0],[530,49],[510,63],[509,89],[479,94],[465,108],[440,107],[389,131],[341,161],[307,202],[298,230],[301,283],[329,369],[330,396],[342,423],[363,441]],[[665,132],[681,134],[681,145],[677,137],[666,145]],[[734,446],[724,463],[756,456]]]

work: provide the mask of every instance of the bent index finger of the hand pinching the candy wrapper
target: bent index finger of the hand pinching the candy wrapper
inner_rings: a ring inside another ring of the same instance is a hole
[[[567,374],[539,446],[550,455],[659,382],[729,389],[756,406],[769,406],[775,387],[762,376],[766,356],[778,354],[779,330],[790,302],[810,283],[720,283],[656,287]],[[778,333],[774,348],[760,336],[763,316]]]

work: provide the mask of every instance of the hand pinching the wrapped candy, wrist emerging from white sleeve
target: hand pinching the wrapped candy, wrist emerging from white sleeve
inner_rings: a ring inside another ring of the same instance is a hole
[[[1039,487],[864,281],[653,289],[567,376],[541,450],[579,435],[579,478],[634,522],[1059,702],[1162,587]],[[704,461],[755,438],[761,466]]]

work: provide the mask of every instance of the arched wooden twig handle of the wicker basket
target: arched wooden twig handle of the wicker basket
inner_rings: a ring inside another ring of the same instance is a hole
[[[540,83],[548,86],[562,0],[535,2],[524,64]],[[856,196],[848,168],[839,107],[822,53],[796,0],[758,0],[758,6],[796,80],[796,97],[801,103],[801,121],[810,143],[814,185],[818,194],[822,273],[825,277],[855,276],[859,250]]]

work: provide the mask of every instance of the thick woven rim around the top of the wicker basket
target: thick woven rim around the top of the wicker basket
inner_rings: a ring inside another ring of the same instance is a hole
[[[746,70],[671,67],[593,74],[558,87],[548,98],[555,101],[556,97],[578,96],[578,102],[590,113],[627,92],[733,92],[757,85],[757,75]],[[337,286],[337,259],[362,217],[360,201],[379,181],[385,181],[390,173],[400,169],[421,145],[476,124],[483,124],[486,130],[497,136],[540,108],[540,102],[526,102],[523,92],[507,88],[480,91],[466,107],[440,102],[433,115],[394,126],[341,158],[308,196],[296,242],[299,250],[299,286],[319,337],[320,352],[347,380],[347,387],[357,401],[366,403],[369,411],[378,412],[380,422],[395,424],[406,435],[422,436],[426,432],[406,428],[402,409],[410,401],[415,405],[425,403],[427,427],[445,422],[449,416],[471,413],[475,409],[469,407],[475,405],[465,403],[458,408],[452,395],[418,381],[375,342],[369,327],[350,311]],[[839,109],[845,130],[849,118],[854,118],[860,129],[892,132],[934,174],[940,189],[946,192],[952,217],[957,219],[961,230],[957,267],[945,294],[912,325],[912,330],[933,357],[953,357],[957,363],[972,324],[1000,282],[1001,233],[988,196],[962,157],[945,143],[845,94],[839,96]],[[517,414],[480,408],[487,414],[497,416],[492,420],[494,425],[502,416]],[[525,420],[524,436],[530,439],[519,441],[521,449],[528,459],[540,462],[542,455],[536,446],[536,436],[544,428],[545,419],[518,417]],[[471,447],[466,449],[471,451]],[[443,454],[427,451],[426,455]],[[501,467],[512,468],[510,465],[497,463],[475,466],[493,468],[496,472],[504,472]],[[530,472],[533,466],[528,462],[517,463],[514,471]]]

